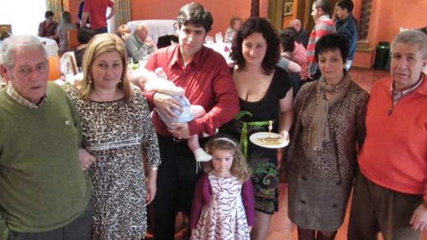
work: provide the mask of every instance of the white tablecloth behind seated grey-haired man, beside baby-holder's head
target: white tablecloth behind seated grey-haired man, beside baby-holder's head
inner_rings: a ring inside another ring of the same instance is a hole
[[[144,22],[148,25],[148,36],[153,39],[155,43],[157,43],[157,39],[160,36],[171,35],[175,33],[175,30],[173,28],[175,20],[136,20],[128,22],[127,25],[133,31],[138,22]]]

